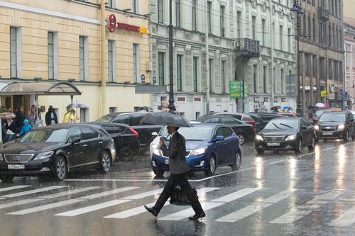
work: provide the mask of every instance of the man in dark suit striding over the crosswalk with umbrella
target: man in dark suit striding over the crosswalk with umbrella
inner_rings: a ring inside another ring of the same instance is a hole
[[[173,196],[175,186],[178,185],[180,186],[181,191],[186,194],[192,209],[195,211],[195,215],[190,216],[189,219],[198,220],[199,218],[204,218],[206,215],[198,200],[197,193],[192,189],[189,181],[187,181],[186,174],[190,171],[190,168],[185,159],[185,138],[178,133],[180,127],[191,127],[192,125],[185,118],[167,112],[149,113],[142,119],[142,122],[156,125],[168,125],[168,133],[170,135],[169,147],[165,146],[163,138],[160,138],[159,144],[160,150],[162,150],[165,157],[169,157],[169,169],[171,172],[168,182],[166,182],[164,190],[160,194],[155,205],[153,207],[144,207],[155,217],[158,216],[160,209],[163,208],[165,202],[168,201],[168,198]]]

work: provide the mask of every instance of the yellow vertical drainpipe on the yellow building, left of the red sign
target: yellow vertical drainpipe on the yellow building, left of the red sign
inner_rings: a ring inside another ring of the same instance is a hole
[[[100,106],[100,116],[104,116],[107,108],[107,103],[106,103],[106,77],[105,77],[105,50],[106,50],[106,45],[105,45],[105,4],[106,0],[101,0],[100,4],[100,15],[101,15],[101,106]]]

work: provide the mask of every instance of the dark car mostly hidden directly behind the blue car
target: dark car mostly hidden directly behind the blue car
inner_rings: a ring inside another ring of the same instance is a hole
[[[236,118],[229,116],[207,116],[201,120],[201,122],[229,125],[234,133],[236,133],[236,135],[239,137],[239,145],[243,145],[244,142],[254,140],[255,138],[255,127]]]

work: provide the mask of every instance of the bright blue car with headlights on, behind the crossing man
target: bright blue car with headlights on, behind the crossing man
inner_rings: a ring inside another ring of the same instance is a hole
[[[238,136],[228,125],[201,123],[193,127],[182,127],[178,132],[186,140],[186,161],[192,171],[204,171],[206,176],[214,174],[217,167],[229,166],[233,171],[241,167],[241,150]],[[151,166],[156,176],[169,171],[169,157],[159,147],[159,138],[165,137],[169,145],[170,135],[163,127],[151,143]]]

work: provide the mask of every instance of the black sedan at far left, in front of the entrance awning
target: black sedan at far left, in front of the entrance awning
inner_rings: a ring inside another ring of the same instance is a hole
[[[98,125],[60,124],[35,128],[0,150],[0,179],[51,174],[62,181],[68,172],[97,168],[107,173],[116,158],[114,140]]]

